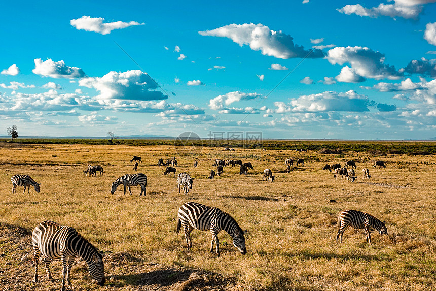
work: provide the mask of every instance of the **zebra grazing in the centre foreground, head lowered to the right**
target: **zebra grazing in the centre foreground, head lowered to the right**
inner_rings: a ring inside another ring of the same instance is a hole
[[[221,211],[216,207],[210,207],[194,202],[187,202],[178,209],[176,234],[183,226],[185,232],[186,247],[192,247],[190,233],[193,229],[208,231],[212,233],[210,252],[213,252],[213,244],[216,243],[216,254],[220,256],[220,242],[218,233],[226,231],[233,238],[233,245],[242,253],[246,254],[245,237],[243,231],[236,220],[230,214]]]

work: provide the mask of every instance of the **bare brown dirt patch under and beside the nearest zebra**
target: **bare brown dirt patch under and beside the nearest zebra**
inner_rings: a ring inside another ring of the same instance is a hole
[[[127,252],[106,253],[103,256],[106,287],[109,290],[236,290],[243,286],[234,277],[225,277],[198,269],[168,266],[147,262],[144,258]],[[40,265],[41,266],[41,265]],[[34,284],[31,233],[23,228],[0,223],[0,285],[1,290],[54,290],[60,287],[61,264],[51,264],[54,283],[46,280],[44,267],[39,269],[40,282]],[[80,273],[80,274],[78,274]],[[72,269],[72,286],[88,285],[91,289],[88,266],[81,258]]]

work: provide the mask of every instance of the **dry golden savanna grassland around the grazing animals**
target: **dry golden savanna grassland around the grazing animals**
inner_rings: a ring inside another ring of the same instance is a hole
[[[358,142],[348,142],[359,147]],[[383,149],[398,143],[375,143]],[[414,144],[410,142],[410,144]],[[436,144],[427,143],[426,153]],[[302,142],[300,147],[305,147]],[[322,144],[319,145],[322,147]],[[87,265],[77,260],[69,290],[431,290],[436,289],[436,156],[344,150],[183,147],[173,145],[87,145],[0,143],[0,290],[57,290],[61,264],[51,264],[55,282],[40,268],[33,280],[31,232],[43,220],[70,225],[105,252],[106,284],[97,287]],[[333,148],[332,148],[333,149]],[[381,154],[382,156],[375,156]],[[138,173],[148,177],[147,193],[111,195],[111,183],[134,173],[132,155],[142,157]],[[188,197],[178,193],[176,178],[164,176],[159,158],[175,156],[177,174],[195,178]],[[215,158],[251,161],[254,170],[239,175],[225,167],[221,177],[208,179]],[[285,173],[285,158],[304,158]],[[375,160],[386,169],[373,169]],[[193,167],[198,160],[198,168]],[[354,183],[334,180],[325,164],[357,164]],[[102,176],[84,176],[88,164],[100,165]],[[265,168],[273,183],[261,181]],[[363,179],[369,168],[371,179]],[[10,178],[28,174],[41,184],[12,194]],[[336,202],[331,202],[334,200]],[[230,213],[243,229],[247,254],[221,232],[221,257],[209,252],[210,232],[192,232],[187,251],[183,234],[175,234],[177,210],[194,201]],[[335,244],[337,217],[357,209],[386,220],[390,238],[347,229],[344,243]]]

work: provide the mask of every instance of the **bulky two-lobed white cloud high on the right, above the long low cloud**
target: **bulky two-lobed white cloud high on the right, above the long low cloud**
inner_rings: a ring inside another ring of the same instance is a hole
[[[403,75],[384,63],[384,54],[367,47],[336,47],[328,51],[327,59],[331,64],[351,64],[351,68],[342,68],[336,77],[339,82],[358,83],[366,78],[395,80]]]

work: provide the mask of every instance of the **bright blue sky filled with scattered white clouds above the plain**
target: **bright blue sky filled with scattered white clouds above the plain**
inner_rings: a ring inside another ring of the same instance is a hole
[[[8,2],[0,130],[433,138],[435,2]]]

